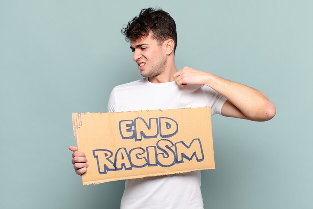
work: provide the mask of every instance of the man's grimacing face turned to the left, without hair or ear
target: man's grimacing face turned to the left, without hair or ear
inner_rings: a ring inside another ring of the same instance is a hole
[[[144,77],[155,77],[162,74],[167,65],[166,49],[159,46],[151,33],[147,37],[130,42],[133,51],[132,59],[138,64],[138,69]]]

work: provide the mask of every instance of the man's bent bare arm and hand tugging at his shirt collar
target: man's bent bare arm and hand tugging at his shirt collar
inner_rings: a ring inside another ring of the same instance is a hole
[[[189,67],[175,73],[174,78],[180,87],[186,84],[207,85],[225,96],[228,100],[221,109],[223,116],[266,121],[276,114],[274,103],[264,93],[243,84]]]

